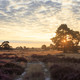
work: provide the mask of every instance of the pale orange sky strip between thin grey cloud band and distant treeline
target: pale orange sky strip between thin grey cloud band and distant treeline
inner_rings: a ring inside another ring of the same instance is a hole
[[[2,42],[4,42],[4,40],[0,40],[0,44]],[[34,47],[34,48],[41,48],[42,45],[45,44],[46,46],[49,46],[50,44],[52,44],[52,42],[46,42],[46,41],[45,42],[40,42],[40,41],[23,41],[23,40],[21,40],[21,41],[12,40],[11,41],[10,40],[9,44],[13,48],[16,48],[16,47],[19,47],[19,46],[22,46],[22,47],[26,46],[27,48],[32,48],[32,47]]]

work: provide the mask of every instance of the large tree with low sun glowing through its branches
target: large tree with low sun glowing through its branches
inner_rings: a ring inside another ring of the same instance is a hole
[[[56,36],[51,40],[57,48],[63,49],[64,52],[77,52],[77,47],[80,42],[80,33],[71,30],[66,24],[61,24],[56,31]]]

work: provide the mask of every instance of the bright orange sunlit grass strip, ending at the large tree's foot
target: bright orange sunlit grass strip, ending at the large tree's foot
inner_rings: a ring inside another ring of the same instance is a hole
[[[59,54],[62,53],[61,51],[56,50],[49,50],[49,51],[25,51],[25,50],[6,50],[6,51],[0,51],[0,54],[7,53],[7,54],[16,54],[20,57],[22,56],[31,56],[32,54],[39,54],[39,55],[47,55],[47,54]]]

